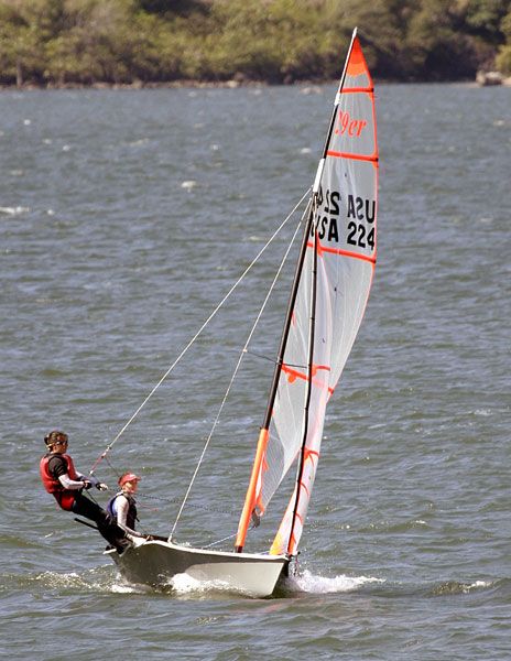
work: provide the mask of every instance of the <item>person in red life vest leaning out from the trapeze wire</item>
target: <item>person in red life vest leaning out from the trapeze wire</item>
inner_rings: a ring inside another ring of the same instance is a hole
[[[102,537],[119,553],[126,551],[130,545],[126,532],[108,512],[84,494],[84,489],[91,487],[108,489],[107,485],[93,475],[86,477],[76,470],[67,454],[67,434],[54,430],[44,437],[44,443],[48,452],[41,458],[40,473],[46,491],[55,497],[62,509],[95,521]]]

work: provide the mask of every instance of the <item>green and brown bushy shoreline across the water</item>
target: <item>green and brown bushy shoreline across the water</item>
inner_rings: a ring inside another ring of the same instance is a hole
[[[331,79],[359,25],[376,77],[511,71],[511,0],[0,0],[0,83]]]

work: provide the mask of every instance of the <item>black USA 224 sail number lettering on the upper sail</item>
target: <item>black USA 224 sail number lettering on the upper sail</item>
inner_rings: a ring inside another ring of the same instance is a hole
[[[338,216],[340,215],[341,195],[337,191],[319,189],[318,202],[323,206],[317,223],[317,236],[328,241],[339,241]],[[346,242],[358,248],[374,248],[376,201],[356,195],[346,197],[348,220]]]

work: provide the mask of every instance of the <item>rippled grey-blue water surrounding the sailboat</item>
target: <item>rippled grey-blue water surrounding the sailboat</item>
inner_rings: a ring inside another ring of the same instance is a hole
[[[333,88],[2,93],[2,655],[511,657],[510,95],[379,87],[377,278],[300,575],[251,599],[183,576],[126,584],[42,490],[37,460],[62,427],[85,472],[129,420],[311,184]],[[142,475],[146,530],[175,520],[269,277],[253,273],[100,465],[110,485]],[[281,304],[258,354],[274,351]],[[180,539],[236,527],[270,379],[267,360],[246,365]]]

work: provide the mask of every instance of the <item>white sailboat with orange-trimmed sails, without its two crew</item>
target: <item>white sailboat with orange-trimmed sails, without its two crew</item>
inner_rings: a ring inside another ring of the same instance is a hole
[[[257,597],[271,595],[296,557],[319,459],[325,411],[357,336],[377,258],[374,91],[354,31],[306,210],[295,275],[256,458],[232,551],[135,540],[108,553],[130,582],[177,574]],[[246,541],[291,467],[296,479],[265,553]]]

